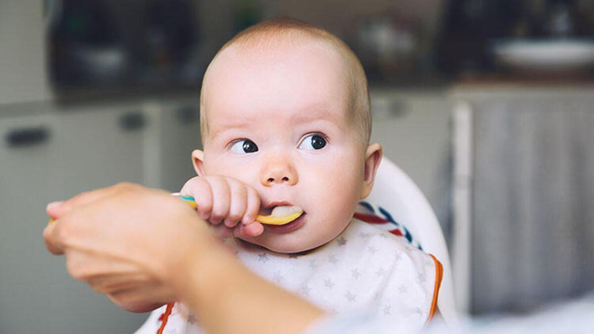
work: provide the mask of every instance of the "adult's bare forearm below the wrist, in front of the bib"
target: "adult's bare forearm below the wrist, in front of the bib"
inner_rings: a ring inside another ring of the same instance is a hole
[[[188,269],[181,297],[208,333],[301,333],[324,314],[255,275],[226,250],[196,256]]]

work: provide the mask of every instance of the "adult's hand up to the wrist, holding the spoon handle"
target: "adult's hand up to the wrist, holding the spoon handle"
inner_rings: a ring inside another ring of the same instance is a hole
[[[218,242],[187,204],[140,185],[90,191],[47,211],[55,219],[43,231],[48,250],[65,254],[72,277],[128,311],[178,300],[176,275]]]

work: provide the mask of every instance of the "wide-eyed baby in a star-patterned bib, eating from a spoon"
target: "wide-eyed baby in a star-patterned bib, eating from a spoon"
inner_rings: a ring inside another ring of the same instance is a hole
[[[416,329],[431,319],[439,262],[355,212],[381,147],[369,144],[365,73],[345,43],[301,21],[257,24],[217,53],[200,98],[204,151],[181,193],[236,237],[226,242],[246,266],[332,313],[371,309]],[[254,221],[280,206],[303,213]],[[138,333],[198,332],[187,314],[162,307]]]

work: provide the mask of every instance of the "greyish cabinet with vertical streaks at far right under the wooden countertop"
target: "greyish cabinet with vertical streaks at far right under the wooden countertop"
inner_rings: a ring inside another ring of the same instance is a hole
[[[451,97],[462,305],[525,313],[592,291],[594,86],[459,86]]]

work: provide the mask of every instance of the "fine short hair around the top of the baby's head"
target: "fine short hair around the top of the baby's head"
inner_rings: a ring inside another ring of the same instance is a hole
[[[336,51],[345,61],[349,73],[350,96],[349,104],[354,121],[359,125],[359,135],[365,146],[369,143],[371,137],[371,107],[369,103],[369,89],[365,71],[355,53],[338,37],[330,32],[294,18],[274,18],[255,24],[230,39],[214,55],[213,60],[208,65],[204,73],[203,84],[200,91],[200,131],[201,136],[208,133],[208,124],[206,121],[206,109],[204,108],[205,85],[208,72],[219,55],[232,45],[241,44],[244,46],[261,46],[262,43],[275,42],[279,40],[291,39],[292,37],[305,37],[322,42]],[[204,142],[204,140],[203,140]]]

